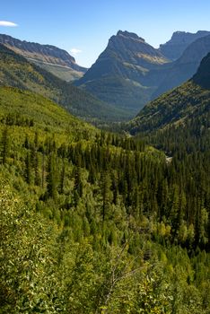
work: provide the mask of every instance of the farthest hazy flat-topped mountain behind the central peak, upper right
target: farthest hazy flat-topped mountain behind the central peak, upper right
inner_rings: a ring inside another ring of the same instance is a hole
[[[175,31],[169,41],[160,45],[159,50],[165,57],[177,60],[193,41],[207,35],[210,35],[210,31],[197,31],[197,33]]]

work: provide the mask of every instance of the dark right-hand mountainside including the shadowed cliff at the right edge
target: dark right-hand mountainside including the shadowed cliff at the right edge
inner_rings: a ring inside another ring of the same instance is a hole
[[[199,136],[208,133],[206,139],[210,146],[210,53],[202,60],[197,74],[191,80],[148,103],[127,124],[127,129],[132,135],[172,129],[173,136],[182,129],[186,136],[191,132],[200,140]]]

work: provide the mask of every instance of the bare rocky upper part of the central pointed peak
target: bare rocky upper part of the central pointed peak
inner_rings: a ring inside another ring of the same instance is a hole
[[[107,48],[81,79],[81,83],[105,75],[120,75],[144,80],[145,72],[167,63],[166,57],[144,39],[128,31],[118,31],[109,39]]]

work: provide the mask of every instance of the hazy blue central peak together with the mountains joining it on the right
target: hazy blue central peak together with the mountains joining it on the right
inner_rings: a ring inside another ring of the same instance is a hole
[[[175,32],[169,42],[156,49],[134,33],[118,31],[75,84],[114,108],[127,109],[135,115],[146,102],[195,74],[201,59],[210,51],[209,34]],[[175,57],[179,58],[174,61]]]

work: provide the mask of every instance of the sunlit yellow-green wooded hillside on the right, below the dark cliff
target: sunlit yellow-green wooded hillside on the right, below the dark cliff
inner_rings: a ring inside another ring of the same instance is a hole
[[[146,105],[130,122],[131,133],[148,133],[171,124],[184,125],[186,119],[207,110],[209,99],[210,91],[188,81]]]

